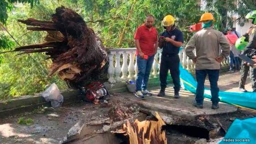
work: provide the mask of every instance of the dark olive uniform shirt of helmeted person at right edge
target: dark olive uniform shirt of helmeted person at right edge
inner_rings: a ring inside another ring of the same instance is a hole
[[[247,35],[245,34],[245,37],[248,37],[248,34]],[[251,33],[249,35],[249,43],[247,44],[247,46],[245,47],[245,50],[241,54],[248,54],[255,50],[256,50],[256,26],[252,28]],[[255,55],[255,53],[253,55]]]

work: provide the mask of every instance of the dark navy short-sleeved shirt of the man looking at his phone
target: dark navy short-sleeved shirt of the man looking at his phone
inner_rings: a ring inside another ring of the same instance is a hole
[[[174,29],[171,32],[163,32],[161,33],[161,37],[169,37],[177,42],[181,42],[183,43],[183,33],[178,30],[178,29]],[[162,43],[162,54],[163,55],[172,55],[172,54],[178,54],[179,53],[179,47],[174,46],[172,43],[169,42],[163,42]]]

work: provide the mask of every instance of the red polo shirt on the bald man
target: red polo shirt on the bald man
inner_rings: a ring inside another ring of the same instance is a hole
[[[139,40],[139,46],[144,54],[152,56],[155,53],[154,44],[157,41],[155,27],[151,27],[151,30],[145,25],[138,27],[134,34],[134,39]],[[138,49],[136,49],[136,55],[139,55]]]

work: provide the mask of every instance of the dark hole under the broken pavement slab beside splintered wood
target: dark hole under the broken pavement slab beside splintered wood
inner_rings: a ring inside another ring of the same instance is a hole
[[[209,131],[206,128],[185,125],[166,125],[163,129],[169,133],[183,133],[190,137],[209,140]]]

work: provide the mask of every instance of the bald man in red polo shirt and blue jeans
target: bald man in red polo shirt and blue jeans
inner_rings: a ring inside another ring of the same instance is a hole
[[[154,62],[154,56],[158,48],[158,37],[155,27],[153,27],[154,16],[148,15],[144,25],[137,28],[134,41],[136,45],[136,60],[138,75],[136,78],[135,96],[144,98],[144,95],[151,96],[147,90],[149,73]]]

